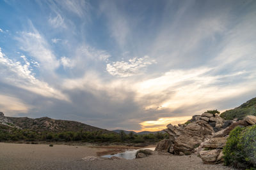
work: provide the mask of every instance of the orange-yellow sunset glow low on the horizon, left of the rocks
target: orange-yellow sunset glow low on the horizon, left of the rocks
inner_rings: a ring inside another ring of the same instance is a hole
[[[166,129],[166,125],[172,124],[183,124],[192,117],[163,117],[159,118],[158,120],[152,120],[152,121],[145,121],[141,122],[141,130],[140,131],[162,131],[163,129]],[[140,132],[136,131],[136,132]]]

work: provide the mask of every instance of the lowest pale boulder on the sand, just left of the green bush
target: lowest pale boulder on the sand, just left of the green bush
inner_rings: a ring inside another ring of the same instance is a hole
[[[220,152],[220,149],[202,150],[199,154],[205,164],[212,164],[216,162],[218,156],[220,155]]]

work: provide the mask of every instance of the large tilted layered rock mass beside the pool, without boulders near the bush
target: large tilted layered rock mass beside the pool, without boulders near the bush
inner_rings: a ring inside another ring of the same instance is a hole
[[[170,152],[176,155],[195,152],[200,143],[210,139],[214,132],[220,131],[225,123],[223,118],[211,113],[195,115],[185,124],[168,124],[164,129],[170,135],[168,140],[160,141],[157,151]]]

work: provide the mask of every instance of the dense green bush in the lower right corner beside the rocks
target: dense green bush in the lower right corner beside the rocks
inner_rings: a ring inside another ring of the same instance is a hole
[[[236,127],[223,148],[226,165],[238,168],[256,167],[256,125]]]

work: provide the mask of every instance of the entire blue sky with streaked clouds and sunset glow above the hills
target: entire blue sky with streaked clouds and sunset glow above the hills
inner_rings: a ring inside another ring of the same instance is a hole
[[[0,1],[0,111],[159,131],[256,97],[256,1]]]

